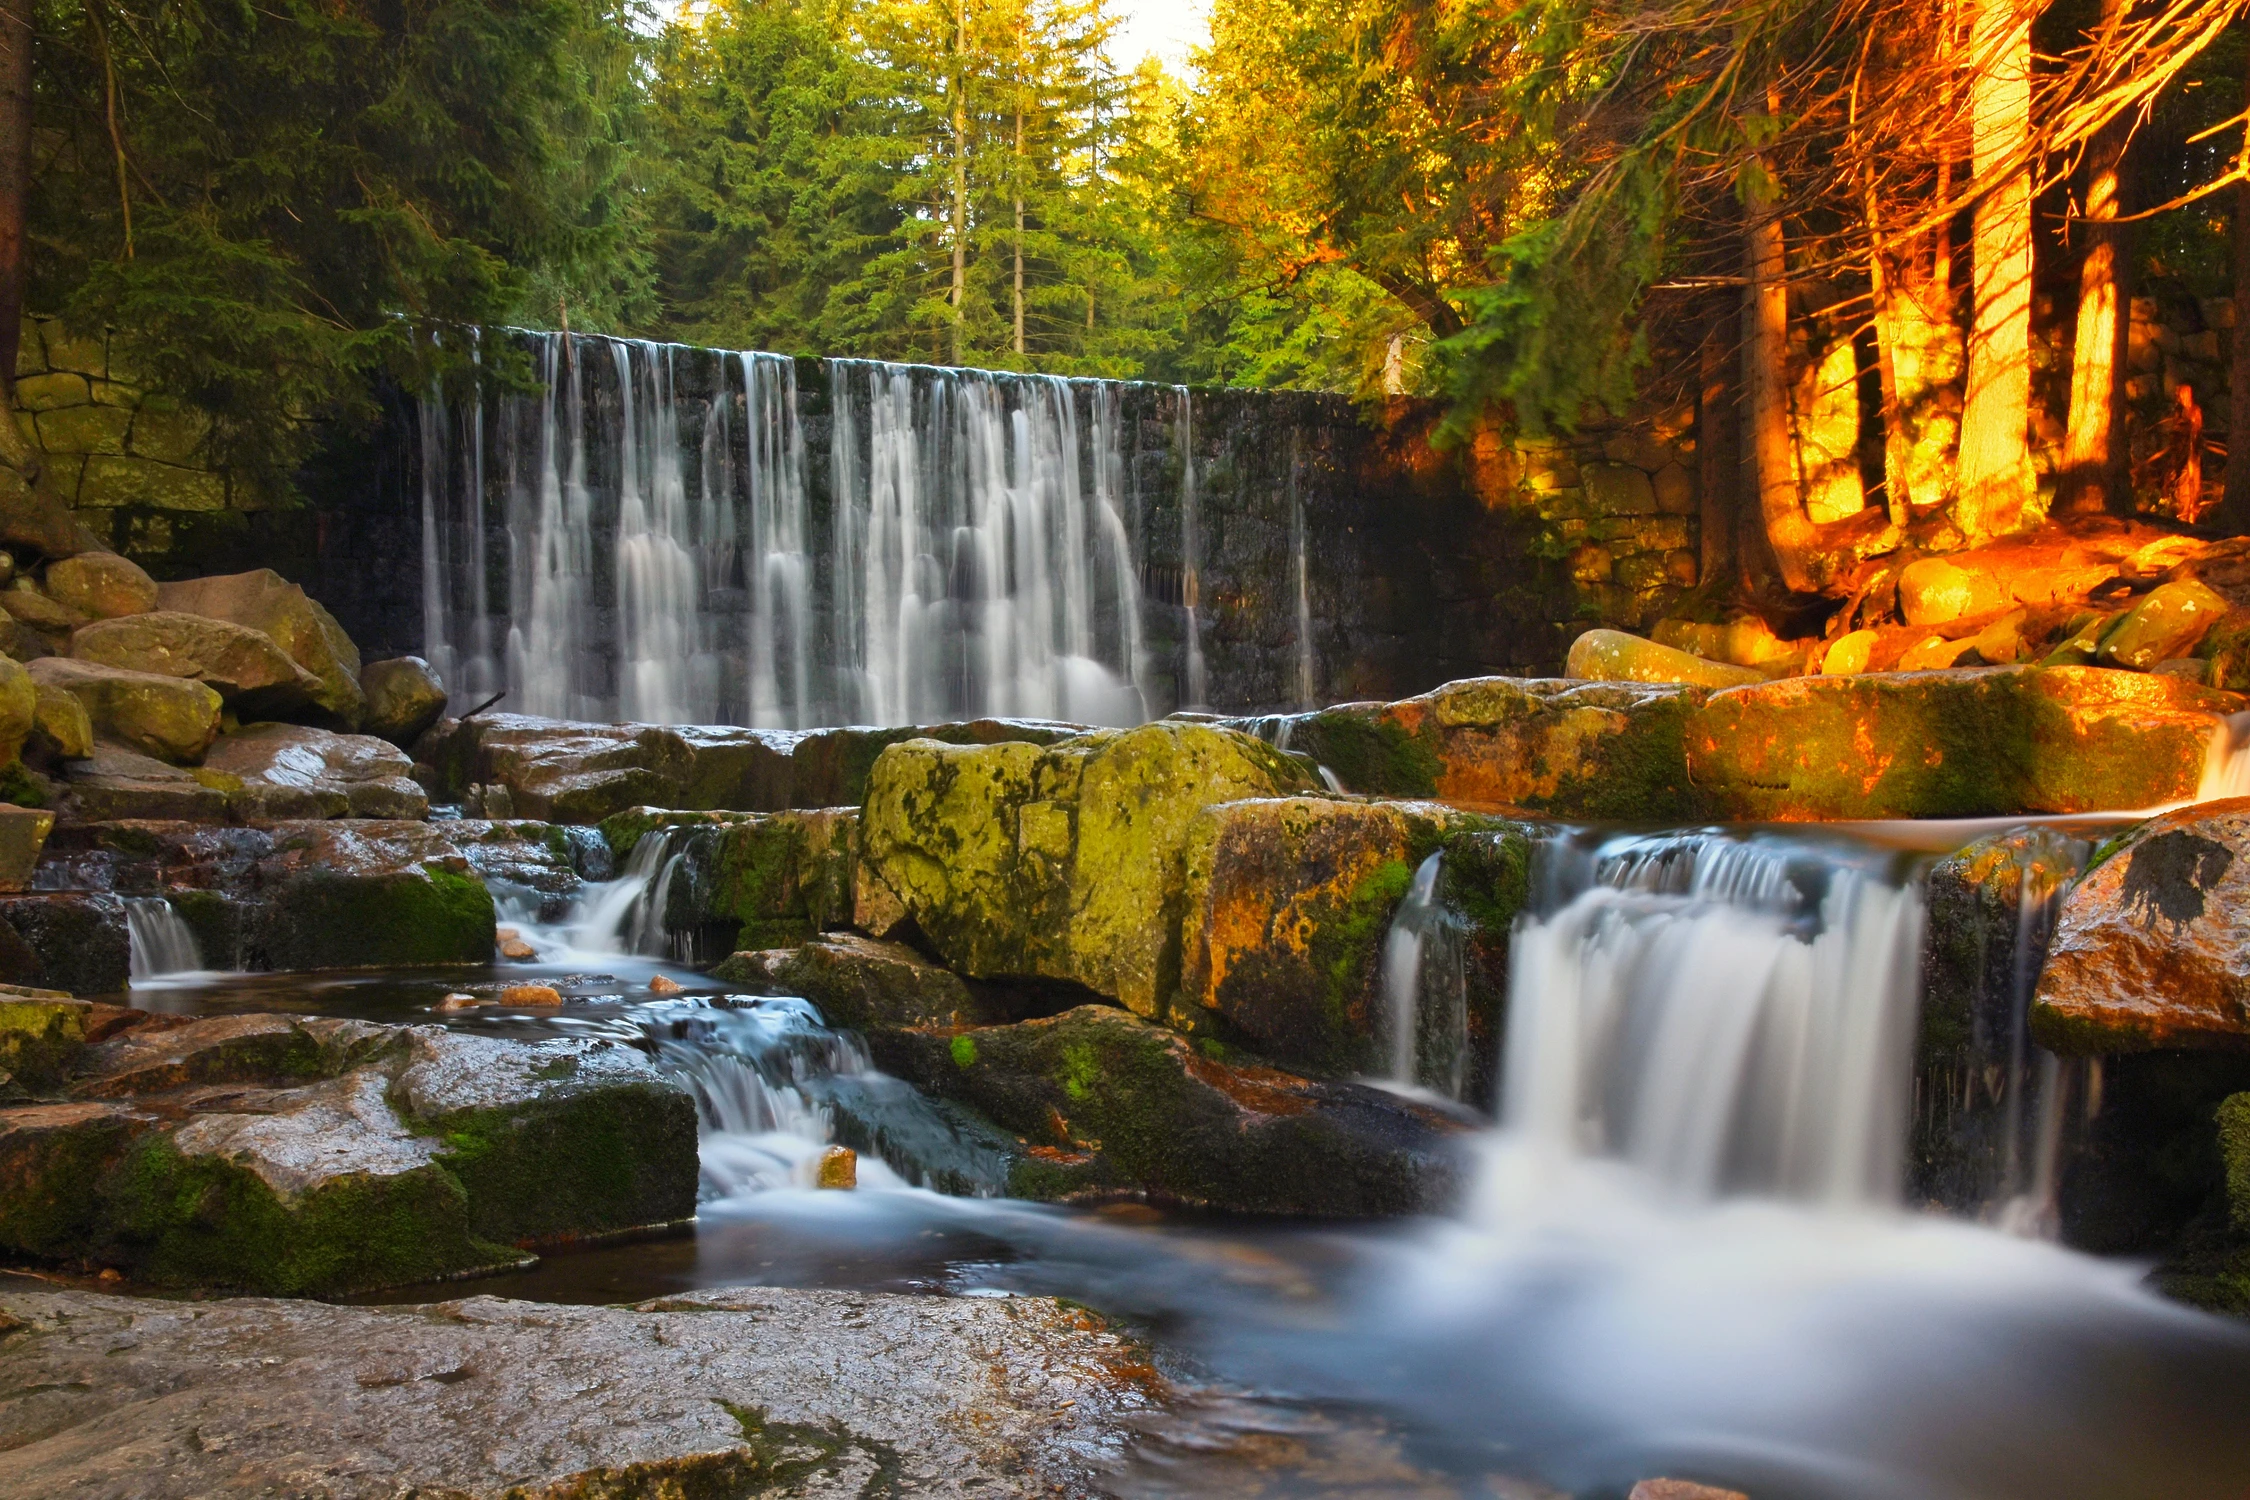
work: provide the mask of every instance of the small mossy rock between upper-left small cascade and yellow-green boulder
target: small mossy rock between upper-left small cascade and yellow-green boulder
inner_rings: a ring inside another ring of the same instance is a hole
[[[655,900],[675,947],[706,960],[745,947],[801,942],[853,920],[860,814],[664,812],[634,807],[601,823],[619,861],[646,837],[677,855]]]

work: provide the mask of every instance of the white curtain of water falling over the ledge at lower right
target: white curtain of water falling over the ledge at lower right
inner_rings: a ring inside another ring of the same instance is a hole
[[[1501,1118],[1665,1192],[1897,1201],[1922,902],[1874,855],[1724,832],[1541,846]]]

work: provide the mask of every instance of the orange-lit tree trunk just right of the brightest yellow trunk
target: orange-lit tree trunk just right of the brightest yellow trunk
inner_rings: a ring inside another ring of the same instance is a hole
[[[2124,0],[2104,0],[2104,31],[2122,18]],[[2070,430],[2063,434],[2056,515],[2131,510],[2115,490],[2117,355],[2124,342],[2124,229],[2117,198],[2124,169],[2124,126],[2113,124],[2086,148],[2086,261],[2079,265],[2079,331],[2070,353]],[[2241,189],[2236,189],[2239,193]],[[2239,214],[2236,214],[2239,218]],[[2236,236],[2239,241],[2239,236]]]

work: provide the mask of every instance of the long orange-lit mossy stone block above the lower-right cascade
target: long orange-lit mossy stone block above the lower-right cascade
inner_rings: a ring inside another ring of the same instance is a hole
[[[1710,816],[1971,819],[2196,796],[2223,715],[2180,677],[1971,668],[1789,677],[1712,693],[1688,722]]]

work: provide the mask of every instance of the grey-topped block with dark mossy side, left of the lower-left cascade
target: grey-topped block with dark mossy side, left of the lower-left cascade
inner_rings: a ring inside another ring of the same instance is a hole
[[[392,1097],[443,1140],[482,1239],[538,1246],[695,1214],[695,1100],[634,1048],[421,1025]]]

